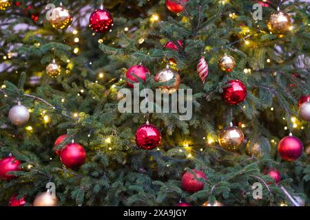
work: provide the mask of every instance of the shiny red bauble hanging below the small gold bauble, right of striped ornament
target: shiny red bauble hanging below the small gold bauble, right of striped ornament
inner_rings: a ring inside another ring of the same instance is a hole
[[[230,80],[223,88],[223,98],[229,104],[240,104],[247,97],[247,87],[240,80]]]

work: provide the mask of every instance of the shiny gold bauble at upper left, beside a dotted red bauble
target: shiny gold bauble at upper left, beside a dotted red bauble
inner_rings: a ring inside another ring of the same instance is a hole
[[[50,13],[50,18],[48,19],[50,21],[50,24],[55,29],[64,29],[68,28],[69,25],[71,25],[73,19],[70,15],[69,10],[57,7],[52,10]]]

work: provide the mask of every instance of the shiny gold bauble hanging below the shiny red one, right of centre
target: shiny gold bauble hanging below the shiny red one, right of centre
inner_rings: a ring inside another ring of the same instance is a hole
[[[218,133],[220,146],[228,151],[237,151],[243,143],[245,135],[236,126],[229,126]]]

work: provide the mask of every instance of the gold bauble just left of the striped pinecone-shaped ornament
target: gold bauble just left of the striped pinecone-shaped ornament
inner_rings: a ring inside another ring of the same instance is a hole
[[[159,88],[163,93],[173,94],[180,87],[180,76],[169,65],[155,76],[156,83],[173,83],[171,86],[164,85]]]

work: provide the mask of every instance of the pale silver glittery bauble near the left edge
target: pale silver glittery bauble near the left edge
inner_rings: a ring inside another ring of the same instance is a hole
[[[14,105],[9,111],[9,119],[12,124],[21,126],[28,122],[30,113],[22,104]]]

